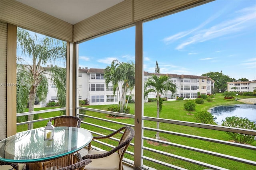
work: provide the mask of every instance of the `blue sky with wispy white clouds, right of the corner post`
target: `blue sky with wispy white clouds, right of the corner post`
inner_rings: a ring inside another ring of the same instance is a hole
[[[143,24],[144,70],[230,78],[256,76],[256,0],[216,0]],[[135,27],[79,44],[79,66],[135,61]]]

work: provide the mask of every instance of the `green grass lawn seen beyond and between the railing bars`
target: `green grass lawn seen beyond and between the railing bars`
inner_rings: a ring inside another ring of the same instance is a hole
[[[242,97],[243,96],[239,96],[239,99],[241,99]],[[242,104],[237,101],[223,100],[223,98],[224,98],[224,96],[221,96],[220,94],[216,94],[216,96],[212,102],[207,102],[205,100],[204,104],[196,104],[196,111],[208,110],[214,106]],[[247,98],[247,96],[244,98]],[[164,101],[162,111],[160,113],[160,118],[196,122],[194,120],[194,115],[187,114],[188,111],[184,110],[184,106],[183,106],[184,103],[185,103],[185,101]],[[107,110],[107,108],[109,106],[110,105],[84,106],[84,107]],[[128,104],[128,106],[130,107],[130,113],[134,114],[134,104]],[[40,108],[38,108],[38,109],[40,109]],[[196,112],[196,111],[194,111],[194,112]],[[194,112],[192,112],[192,113],[194,113]],[[42,113],[39,115],[39,117],[47,117],[47,116],[53,117],[56,115],[60,115],[59,111],[57,111],[56,113],[55,112],[54,113]],[[92,111],[86,111],[86,115],[100,117],[103,119],[110,119],[113,121],[120,121],[123,123],[134,124],[134,119],[132,119],[132,118],[118,119],[118,118],[108,117],[108,115],[106,115],[104,113],[96,113],[96,112],[92,112]],[[156,117],[156,102],[144,103],[144,116]],[[102,125],[102,126],[109,127],[112,129],[117,129],[118,127],[122,126],[122,125],[117,125],[117,124],[114,124],[111,122],[100,121],[100,120],[91,119],[91,118],[86,118],[83,121],[86,121],[86,122],[89,122],[92,124]],[[43,127],[46,125],[46,122],[41,123],[40,125],[39,125],[39,123],[40,122],[34,123],[34,128]],[[144,121],[144,126],[156,128],[156,122]],[[105,130],[102,130],[102,129],[99,129],[97,127],[90,126],[90,125],[82,124],[81,127],[85,128],[85,129],[90,129],[92,131],[97,131],[102,134],[110,133],[109,131],[105,131]],[[179,133],[186,133],[186,134],[191,134],[191,135],[198,135],[198,136],[202,136],[202,137],[210,137],[210,138],[220,139],[220,140],[224,140],[224,141],[230,140],[229,136],[222,131],[215,131],[215,130],[209,130],[209,129],[196,128],[196,127],[186,127],[186,126],[182,126],[182,125],[170,125],[167,123],[160,123],[160,129],[179,132]],[[155,138],[155,132],[144,131],[144,136],[150,137],[150,138]],[[164,133],[160,133],[160,137],[162,140],[165,140],[165,141],[168,141],[171,143],[178,143],[180,145],[186,145],[189,147],[196,147],[199,149],[210,150],[212,152],[228,154],[230,156],[236,156],[239,158],[245,158],[245,159],[249,159],[249,160],[253,160],[253,161],[256,160],[256,151],[255,150],[231,147],[231,146],[226,146],[226,145],[217,144],[217,143],[211,143],[211,142],[207,142],[207,141],[200,141],[200,140],[196,140],[196,139],[179,137],[179,136],[175,136],[175,135],[168,135],[168,134],[164,134]],[[112,143],[112,141],[111,142],[108,141],[108,143]],[[134,143],[134,141],[132,141],[132,143]],[[98,145],[96,143],[94,143],[93,145],[96,145],[98,147],[101,147],[102,149],[108,150],[107,147]],[[112,145],[117,145],[117,144],[113,142]],[[254,143],[252,143],[252,145],[256,146],[256,141],[254,141]],[[150,147],[150,148],[162,150],[165,152],[169,152],[171,154],[184,156],[186,158],[198,160],[201,162],[206,162],[209,164],[214,164],[216,166],[220,166],[220,167],[232,169],[232,170],[241,170],[241,169],[254,170],[255,169],[254,166],[250,166],[250,165],[239,163],[239,162],[234,162],[232,160],[217,158],[215,156],[210,156],[207,154],[202,154],[202,153],[194,152],[191,150],[181,149],[178,147],[165,146],[162,144],[156,145],[156,144],[150,143],[148,141],[144,141],[144,147]],[[132,152],[134,151],[133,149],[134,149],[133,147],[128,148],[128,150],[130,150]],[[170,158],[170,157],[156,154],[154,152],[149,152],[146,150],[144,150],[144,156],[155,158],[155,159],[161,160],[163,162],[168,162],[170,164],[174,164],[176,166],[180,166],[180,167],[183,167],[183,168],[186,168],[189,170],[206,169],[205,167],[202,167],[202,166],[194,165],[194,164],[191,164],[188,162],[184,162],[182,160]],[[126,154],[125,157],[127,157],[129,159],[133,159],[133,157],[128,154]],[[158,170],[170,169],[170,168],[166,168],[164,166],[161,166],[161,165],[158,165],[158,164],[146,161],[146,160],[144,160],[144,164],[146,166],[150,166],[150,167],[156,168]]]

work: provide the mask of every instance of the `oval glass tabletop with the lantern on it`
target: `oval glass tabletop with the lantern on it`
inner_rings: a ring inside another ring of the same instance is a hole
[[[92,141],[83,128],[54,127],[52,141],[44,140],[44,127],[23,131],[0,141],[0,161],[45,162],[72,154]]]

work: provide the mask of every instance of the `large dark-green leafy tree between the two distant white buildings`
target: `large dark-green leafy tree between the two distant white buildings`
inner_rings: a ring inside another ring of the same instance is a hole
[[[230,78],[227,75],[222,74],[222,71],[220,72],[207,72],[205,74],[202,74],[202,76],[207,76],[214,80],[214,92],[225,92],[227,90],[228,85],[226,82],[233,82],[236,81],[234,78]]]

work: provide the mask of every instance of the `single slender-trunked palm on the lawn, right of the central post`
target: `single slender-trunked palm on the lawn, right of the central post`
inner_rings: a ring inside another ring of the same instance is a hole
[[[149,88],[151,87],[151,88]],[[156,76],[152,75],[151,78],[144,83],[144,98],[148,96],[150,92],[156,94],[156,117],[159,118],[160,108],[162,108],[162,99],[160,99],[160,94],[164,94],[164,92],[172,92],[172,94],[176,93],[176,84],[171,81],[171,78],[168,76]],[[156,129],[159,129],[159,122],[156,122]],[[156,139],[160,139],[159,132],[156,133]]]

